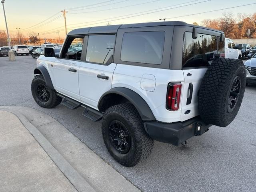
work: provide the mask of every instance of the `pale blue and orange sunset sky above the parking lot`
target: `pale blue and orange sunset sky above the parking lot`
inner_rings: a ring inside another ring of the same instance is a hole
[[[64,17],[60,12],[64,9],[68,11],[66,24],[69,32],[107,23],[153,22],[160,18],[200,24],[204,19],[221,17],[223,12],[253,14],[256,4],[252,3],[256,0],[6,0],[4,7],[11,36],[16,34],[16,28],[20,28],[24,36],[36,32],[40,33],[40,38],[58,38],[56,32],[59,32],[64,38]],[[246,4],[252,5],[242,6]],[[208,12],[212,10],[219,11]],[[2,5],[0,18],[0,30],[6,30]]]

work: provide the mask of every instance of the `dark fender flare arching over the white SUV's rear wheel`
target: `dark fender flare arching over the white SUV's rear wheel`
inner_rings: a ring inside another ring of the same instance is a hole
[[[146,103],[146,101],[136,92],[124,87],[115,87],[105,92],[98,102],[98,109],[101,108],[102,98],[108,94],[118,94],[130,101],[136,110],[139,112],[143,121],[154,121],[156,120],[152,110]]]

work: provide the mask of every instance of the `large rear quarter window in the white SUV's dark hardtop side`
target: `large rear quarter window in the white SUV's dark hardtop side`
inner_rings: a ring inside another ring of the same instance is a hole
[[[121,60],[161,64],[164,51],[164,36],[164,31],[124,33]]]

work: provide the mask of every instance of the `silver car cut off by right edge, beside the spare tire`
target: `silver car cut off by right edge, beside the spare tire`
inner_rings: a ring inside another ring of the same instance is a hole
[[[256,84],[256,53],[248,54],[248,58],[244,63],[246,68],[246,84]]]

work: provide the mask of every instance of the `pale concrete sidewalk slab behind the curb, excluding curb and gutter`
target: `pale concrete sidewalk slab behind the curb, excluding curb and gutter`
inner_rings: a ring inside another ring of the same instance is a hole
[[[76,191],[20,120],[1,110],[0,164],[0,191]]]

